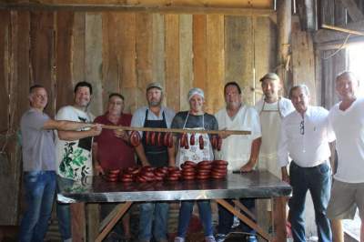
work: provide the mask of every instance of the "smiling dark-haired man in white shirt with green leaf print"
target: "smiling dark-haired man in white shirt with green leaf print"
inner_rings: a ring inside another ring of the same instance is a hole
[[[56,120],[83,123],[94,121],[87,107],[91,101],[92,86],[79,82],[75,86],[73,106],[61,107]],[[57,186],[72,185],[74,181],[93,176],[91,146],[93,136],[101,133],[101,126],[81,128],[78,131],[58,131],[56,136],[56,174]],[[63,241],[72,241],[71,212],[67,204],[57,203],[58,227]]]

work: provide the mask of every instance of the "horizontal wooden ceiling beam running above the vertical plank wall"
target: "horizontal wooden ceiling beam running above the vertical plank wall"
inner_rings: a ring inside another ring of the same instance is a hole
[[[0,0],[0,9],[272,16],[272,0]]]

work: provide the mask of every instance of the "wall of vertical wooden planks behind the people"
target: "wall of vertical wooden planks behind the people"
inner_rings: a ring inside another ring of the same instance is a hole
[[[28,88],[35,83],[48,91],[50,116],[72,104],[79,81],[94,86],[95,115],[104,112],[112,92],[123,94],[126,112],[133,113],[146,104],[151,81],[165,86],[165,104],[176,111],[188,108],[187,92],[197,86],[206,92],[207,112],[217,112],[228,81],[237,81],[252,105],[259,98],[258,79],[276,67],[276,36],[274,20],[262,16],[1,11],[1,134],[18,129]],[[15,143],[7,148],[14,159]],[[16,159],[13,169],[21,164]],[[14,191],[21,170],[15,174],[5,177],[13,183],[3,194],[6,199],[0,198],[0,209],[14,207],[8,197],[19,194]],[[16,223],[8,219],[14,211],[0,213],[6,219],[0,225]]]

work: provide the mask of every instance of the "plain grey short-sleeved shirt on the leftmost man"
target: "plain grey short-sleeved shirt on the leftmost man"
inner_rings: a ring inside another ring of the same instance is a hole
[[[55,136],[43,126],[50,118],[34,108],[22,116],[22,152],[24,171],[54,171],[56,169]]]

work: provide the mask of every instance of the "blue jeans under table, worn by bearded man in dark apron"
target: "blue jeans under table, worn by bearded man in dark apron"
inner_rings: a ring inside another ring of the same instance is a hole
[[[167,220],[169,204],[143,203],[140,204],[139,235],[140,241],[150,241],[154,218],[153,236],[159,240],[167,240]]]

